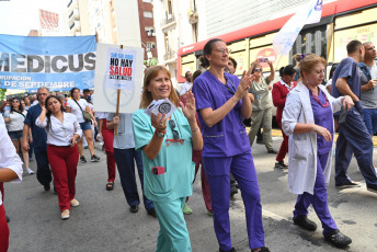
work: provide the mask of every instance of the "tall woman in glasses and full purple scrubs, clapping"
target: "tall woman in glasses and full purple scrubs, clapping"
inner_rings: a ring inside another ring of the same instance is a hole
[[[229,59],[227,44],[218,38],[204,46],[202,66],[209,69],[193,85],[203,134],[203,167],[207,174],[219,251],[231,247],[229,225],[230,171],[235,175],[245,207],[249,247],[252,252],[269,252],[264,247],[262,205],[256,172],[243,118],[251,116],[248,90],[254,79],[224,72]]]

